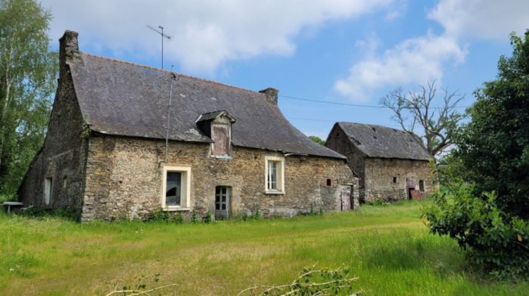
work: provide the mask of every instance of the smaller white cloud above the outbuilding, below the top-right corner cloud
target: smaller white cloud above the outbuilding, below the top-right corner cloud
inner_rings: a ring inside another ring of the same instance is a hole
[[[443,63],[463,62],[466,50],[454,39],[428,34],[406,39],[382,56],[372,52],[367,56],[349,69],[348,78],[336,82],[334,90],[355,101],[367,101],[370,92],[379,87],[441,80]]]

